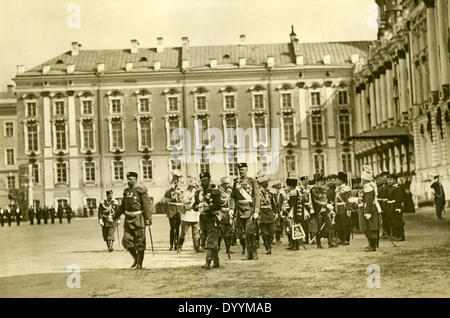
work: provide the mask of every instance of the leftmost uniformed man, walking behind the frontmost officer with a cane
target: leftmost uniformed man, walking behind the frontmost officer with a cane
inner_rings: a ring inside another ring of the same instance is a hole
[[[106,191],[106,199],[98,207],[98,223],[102,226],[102,236],[108,247],[108,252],[114,250],[114,234],[117,224],[114,222],[113,217],[116,208],[117,203],[113,200],[113,191]],[[117,220],[117,222],[120,223],[120,220]]]

